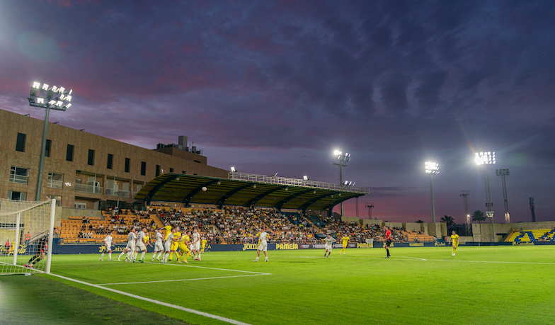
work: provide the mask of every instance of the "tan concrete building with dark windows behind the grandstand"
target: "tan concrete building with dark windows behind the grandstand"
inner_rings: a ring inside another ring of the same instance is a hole
[[[1,198],[35,200],[43,124],[0,110]],[[149,150],[50,123],[40,199],[56,198],[67,208],[98,210],[117,201],[137,206],[142,203],[133,200],[135,193],[161,173],[227,178],[186,141],[180,137],[180,144]]]

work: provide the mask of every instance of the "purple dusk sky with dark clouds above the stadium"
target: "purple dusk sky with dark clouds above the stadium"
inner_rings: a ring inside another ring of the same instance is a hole
[[[74,89],[54,112],[152,149],[178,135],[246,173],[343,178],[389,221],[486,210],[474,152],[508,168],[513,221],[555,219],[555,1],[0,1],[0,108],[33,81]],[[338,210],[336,208],[336,210]],[[355,200],[345,203],[355,215]]]

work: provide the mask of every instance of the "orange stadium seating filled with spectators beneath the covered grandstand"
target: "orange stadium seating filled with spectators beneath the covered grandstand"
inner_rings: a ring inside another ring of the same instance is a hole
[[[332,234],[338,239],[347,235],[351,243],[364,243],[367,239],[385,241],[385,231],[381,225],[361,225],[317,215],[305,216],[302,212],[277,212],[270,208],[225,207],[224,210],[218,210],[151,206],[144,211],[110,209],[103,211],[102,215],[102,218],[88,218],[86,223],[83,217],[63,219],[60,227],[60,238],[64,239],[62,242],[101,244],[106,229],[118,229],[114,239],[121,243],[127,240],[127,234],[133,227],[147,227],[151,231],[167,225],[183,229],[198,227],[209,244],[256,243],[256,234],[261,227],[270,233],[270,243],[320,243],[319,237],[325,234]],[[101,226],[102,229],[99,229]],[[82,229],[85,229],[85,234],[82,234]],[[397,228],[391,229],[391,235],[394,241],[401,242],[434,240],[433,236],[427,234]],[[528,235],[523,235],[519,240],[524,236]]]

